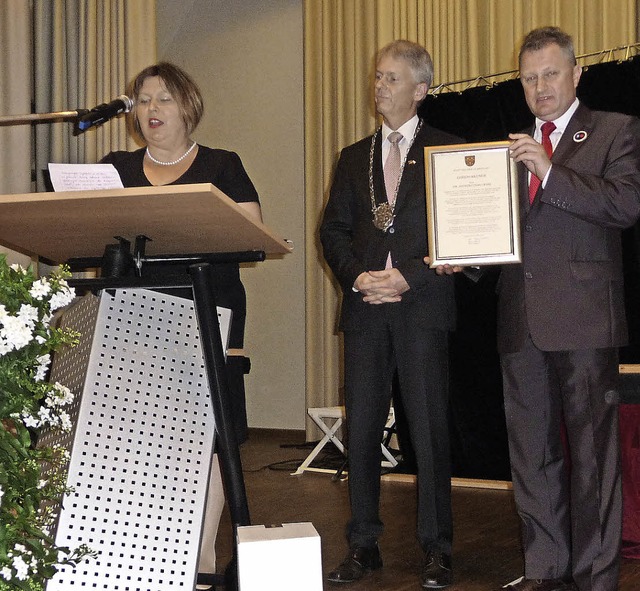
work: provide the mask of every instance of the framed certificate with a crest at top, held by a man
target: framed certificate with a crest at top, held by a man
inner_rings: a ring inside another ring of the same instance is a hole
[[[518,179],[510,143],[425,147],[431,267],[521,261]]]

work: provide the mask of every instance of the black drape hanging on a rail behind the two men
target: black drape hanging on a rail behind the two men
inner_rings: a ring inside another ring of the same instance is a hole
[[[585,67],[578,97],[588,107],[640,116],[640,56]],[[419,109],[429,124],[469,142],[507,139],[533,123],[519,80],[430,95]],[[640,363],[640,224],[623,234],[630,345],[621,363]],[[495,345],[495,280],[456,276],[459,322],[451,339],[453,474],[510,480],[502,383]]]

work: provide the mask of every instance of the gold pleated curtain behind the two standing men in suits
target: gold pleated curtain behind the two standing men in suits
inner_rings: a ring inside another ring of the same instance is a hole
[[[434,86],[517,68],[531,29],[557,25],[576,53],[637,40],[637,0],[305,0],[307,407],[340,401],[338,296],[318,225],[341,148],[371,133],[375,52],[393,39],[424,45]]]

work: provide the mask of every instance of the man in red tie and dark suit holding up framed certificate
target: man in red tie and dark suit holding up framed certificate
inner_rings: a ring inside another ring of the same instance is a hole
[[[616,591],[620,234],[640,217],[640,121],[580,103],[581,68],[560,29],[529,33],[519,60],[536,124],[509,136],[522,264],[504,265],[497,289],[525,573],[506,589]]]

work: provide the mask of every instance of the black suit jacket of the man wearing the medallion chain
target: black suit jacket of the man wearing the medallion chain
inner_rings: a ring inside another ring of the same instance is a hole
[[[352,286],[360,273],[384,269],[387,253],[410,290],[402,295],[404,313],[427,328],[451,329],[455,324],[452,277],[441,277],[422,261],[428,252],[424,146],[462,140],[428,125],[418,133],[404,168],[395,205],[393,228],[373,226],[369,196],[371,137],[345,148],[338,161],[320,228],[324,256],[344,293],[340,327],[367,330],[384,317],[383,306],[362,301]],[[381,132],[377,132],[373,178],[377,203],[386,199],[382,171]]]

